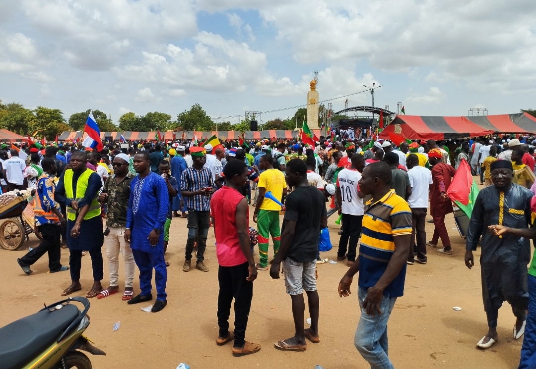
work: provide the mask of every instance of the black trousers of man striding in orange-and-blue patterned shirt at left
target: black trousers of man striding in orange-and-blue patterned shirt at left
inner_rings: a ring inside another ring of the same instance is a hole
[[[38,247],[21,257],[20,263],[24,266],[33,265],[48,252],[48,269],[50,272],[58,272],[62,267],[59,263],[59,258],[61,257],[61,249],[59,248],[60,227],[56,224],[43,224],[39,226],[39,232],[41,232],[43,241]]]

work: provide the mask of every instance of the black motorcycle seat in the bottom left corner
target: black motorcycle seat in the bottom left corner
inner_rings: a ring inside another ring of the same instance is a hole
[[[17,369],[36,359],[75,320],[80,311],[67,304],[59,310],[43,310],[0,328],[0,366]]]

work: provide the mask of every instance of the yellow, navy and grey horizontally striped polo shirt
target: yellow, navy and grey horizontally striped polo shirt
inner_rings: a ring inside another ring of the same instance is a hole
[[[411,235],[411,219],[410,205],[394,190],[368,207],[359,247],[359,287],[368,289],[376,285],[394,253],[394,236]],[[405,279],[406,263],[383,294],[403,296]]]

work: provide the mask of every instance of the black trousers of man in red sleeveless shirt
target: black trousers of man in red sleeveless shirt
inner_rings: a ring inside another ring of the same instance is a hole
[[[220,293],[218,295],[218,326],[220,337],[229,332],[231,303],[235,299],[234,347],[244,345],[245,328],[248,326],[249,310],[253,298],[253,282],[245,280],[249,275],[248,263],[236,266],[221,266],[218,269]]]

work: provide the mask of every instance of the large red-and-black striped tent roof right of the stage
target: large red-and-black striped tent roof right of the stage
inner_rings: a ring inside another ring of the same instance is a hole
[[[448,140],[495,133],[534,133],[536,118],[527,113],[477,117],[396,116],[379,134],[389,139],[389,133],[405,139]]]

